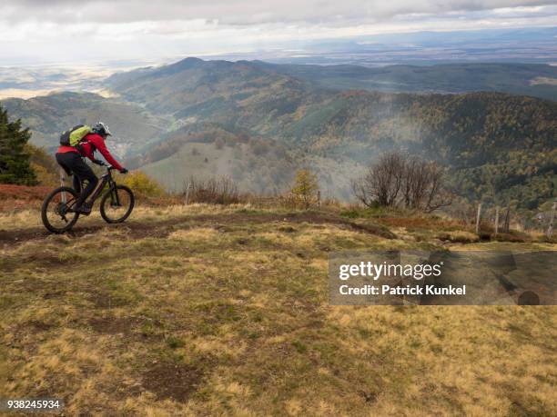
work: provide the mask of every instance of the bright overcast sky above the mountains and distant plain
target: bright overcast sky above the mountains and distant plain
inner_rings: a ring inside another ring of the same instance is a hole
[[[294,40],[556,22],[557,0],[0,0],[0,65],[225,54]]]

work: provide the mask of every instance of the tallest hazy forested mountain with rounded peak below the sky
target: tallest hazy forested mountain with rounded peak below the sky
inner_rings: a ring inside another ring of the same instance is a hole
[[[216,116],[222,120],[248,117],[252,119],[250,124],[268,119],[269,114],[289,113],[322,94],[309,83],[247,61],[197,58],[115,74],[106,83],[127,100],[145,104],[153,113],[174,114],[177,118]]]

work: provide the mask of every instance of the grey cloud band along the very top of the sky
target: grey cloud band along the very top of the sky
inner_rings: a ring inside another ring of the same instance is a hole
[[[554,5],[554,0],[3,0],[5,21],[77,23],[197,20],[220,25],[370,23],[408,14],[446,14]]]

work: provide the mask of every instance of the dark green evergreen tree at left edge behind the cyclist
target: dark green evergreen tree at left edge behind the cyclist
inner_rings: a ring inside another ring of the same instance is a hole
[[[0,106],[0,184],[37,184],[25,149],[29,139],[29,129],[22,130],[19,119],[10,123],[7,111]]]

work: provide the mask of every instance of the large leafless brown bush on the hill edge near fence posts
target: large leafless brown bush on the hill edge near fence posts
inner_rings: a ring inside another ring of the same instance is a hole
[[[432,212],[451,204],[443,186],[444,169],[433,162],[400,152],[380,156],[361,178],[351,183],[352,193],[371,206],[403,206]]]

